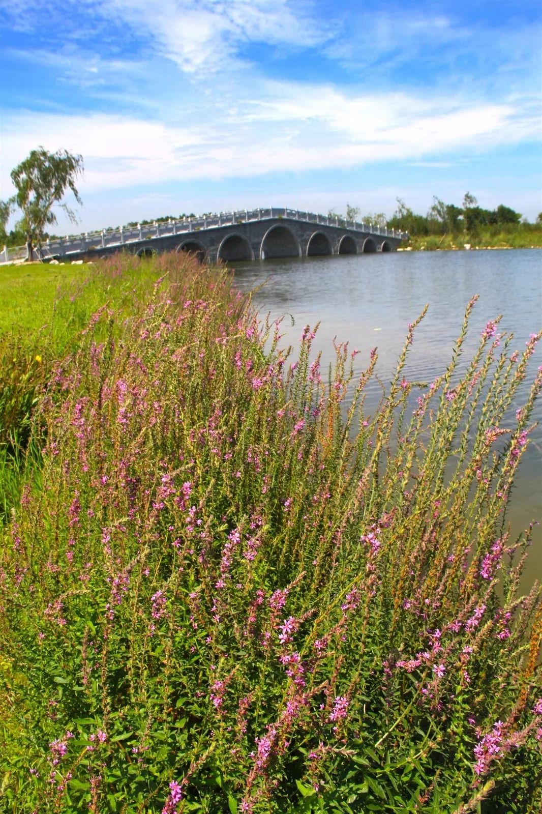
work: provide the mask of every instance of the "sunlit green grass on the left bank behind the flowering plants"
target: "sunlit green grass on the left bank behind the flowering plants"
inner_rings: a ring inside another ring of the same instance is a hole
[[[158,275],[153,260],[120,255],[98,265],[0,269],[0,523],[19,498],[25,467],[39,466],[26,448],[33,408],[55,366],[99,309],[138,313]]]

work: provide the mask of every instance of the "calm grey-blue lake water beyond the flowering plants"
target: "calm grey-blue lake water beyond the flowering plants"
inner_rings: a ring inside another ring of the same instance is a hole
[[[257,288],[261,283],[263,287]],[[320,322],[315,339],[322,351],[323,369],[334,359],[333,339],[348,342],[356,357],[356,372],[378,347],[378,374],[389,381],[409,322],[429,311],[417,328],[405,378],[431,382],[444,372],[461,329],[466,304],[479,301],[470,322],[463,358],[477,347],[480,331],[502,314],[500,331],[514,334],[514,348],[522,350],[530,333],[542,326],[542,251],[391,252],[374,255],[310,257],[303,260],[265,260],[238,263],[235,283],[243,291],[257,289],[254,302],[261,316],[284,316],[282,345],[299,343],[306,324]],[[292,322],[294,324],[292,324]],[[531,378],[542,365],[542,347],[531,357]],[[518,403],[527,396],[523,387]],[[368,394],[378,401],[378,385]],[[534,419],[542,423],[542,398]],[[542,521],[542,430],[531,436],[516,479],[508,519],[513,533],[531,520]],[[542,578],[542,526],[535,529],[523,586]]]

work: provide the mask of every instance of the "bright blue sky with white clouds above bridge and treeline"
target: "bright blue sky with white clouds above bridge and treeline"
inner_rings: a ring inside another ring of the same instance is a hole
[[[0,197],[81,153],[81,230],[540,196],[540,2],[0,0]],[[68,229],[59,213],[59,227]],[[69,227],[72,231],[73,227]]]

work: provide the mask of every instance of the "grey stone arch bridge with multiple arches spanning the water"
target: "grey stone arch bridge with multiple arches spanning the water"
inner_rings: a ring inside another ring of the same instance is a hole
[[[48,241],[42,248],[45,260],[90,260],[119,251],[138,256],[173,251],[193,252],[200,260],[232,262],[392,252],[407,237],[370,223],[268,208],[83,234]]]

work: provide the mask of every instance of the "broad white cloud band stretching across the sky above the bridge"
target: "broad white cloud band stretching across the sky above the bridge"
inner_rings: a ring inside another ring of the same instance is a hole
[[[81,189],[149,188],[169,181],[354,168],[382,160],[438,160],[535,137],[538,122],[505,104],[407,94],[345,94],[329,86],[278,83],[267,98],[241,100],[240,116],[211,106],[187,124],[138,116],[15,112],[4,117],[2,182],[28,151],[64,147],[85,158]]]

